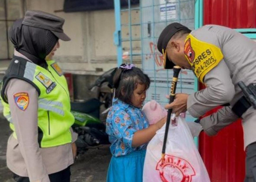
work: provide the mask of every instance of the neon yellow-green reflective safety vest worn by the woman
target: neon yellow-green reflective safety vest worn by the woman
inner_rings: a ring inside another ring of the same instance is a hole
[[[71,143],[70,127],[74,124],[75,119],[70,112],[68,85],[63,72],[55,61],[47,61],[48,69],[46,70],[25,59],[17,58],[12,60],[3,79],[1,90],[4,116],[10,122],[13,136],[17,138],[4,90],[11,78],[19,78],[31,83],[38,91],[39,146],[54,147]],[[15,63],[17,60],[18,63]],[[28,105],[27,107],[33,106]]]

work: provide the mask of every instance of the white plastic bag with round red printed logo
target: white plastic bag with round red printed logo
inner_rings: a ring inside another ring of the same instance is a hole
[[[171,123],[163,162],[165,125],[147,146],[143,182],[210,182],[185,119],[179,116],[176,124]]]

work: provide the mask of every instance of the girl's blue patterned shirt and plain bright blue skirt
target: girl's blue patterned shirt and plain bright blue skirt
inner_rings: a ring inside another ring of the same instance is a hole
[[[136,131],[147,127],[139,108],[114,99],[106,120],[112,153],[107,182],[142,182],[147,144],[132,147],[132,138]]]

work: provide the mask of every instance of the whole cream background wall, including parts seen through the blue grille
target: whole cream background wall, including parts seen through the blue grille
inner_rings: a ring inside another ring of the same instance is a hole
[[[3,5],[3,3],[0,5]],[[71,41],[64,42],[60,40],[60,48],[54,56],[64,72],[101,75],[104,71],[116,67],[116,46],[113,43],[115,30],[113,9],[65,13],[63,11],[64,0],[7,0],[7,6],[8,19],[12,20],[22,17],[24,8],[25,10],[45,11],[65,19],[63,29],[71,38]],[[3,10],[3,8],[0,8],[0,15],[4,15]],[[139,23],[139,14],[139,11],[132,11],[132,23]],[[122,12],[121,19],[123,24],[127,24],[128,12]],[[10,21],[9,27],[12,23]],[[0,33],[0,43],[3,42],[5,45],[6,30],[1,26]],[[132,35],[133,38],[140,37],[140,26],[132,27]],[[124,39],[129,38],[128,26],[123,26],[122,37]],[[140,53],[140,46],[140,41],[133,41],[133,53]],[[4,57],[7,57],[7,46],[2,47],[2,53],[5,55]],[[9,47],[9,55],[12,57],[13,46],[11,43]],[[123,52],[124,54],[130,53],[129,42],[123,42]],[[124,58],[124,62],[129,62],[129,57]],[[133,62],[140,66],[140,56],[134,56]],[[4,73],[8,64],[9,61],[1,61],[0,73]]]

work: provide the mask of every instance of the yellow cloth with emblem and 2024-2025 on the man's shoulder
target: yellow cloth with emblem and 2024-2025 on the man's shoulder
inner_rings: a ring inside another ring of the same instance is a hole
[[[193,72],[202,83],[204,76],[223,59],[220,48],[200,41],[191,34],[185,40],[184,53]]]

